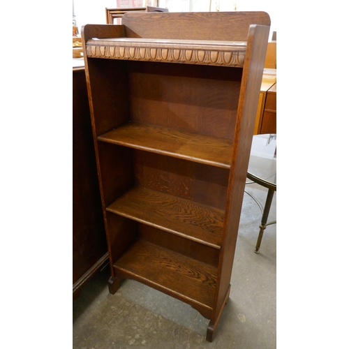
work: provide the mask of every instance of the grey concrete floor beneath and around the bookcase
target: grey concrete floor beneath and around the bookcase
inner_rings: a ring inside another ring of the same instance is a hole
[[[247,184],[246,191],[265,202],[266,188]],[[267,226],[256,254],[261,217],[245,194],[230,298],[212,343],[205,340],[209,320],[188,304],[132,280],[111,295],[108,265],[73,301],[73,348],[276,348],[276,224]],[[269,221],[274,220],[276,193],[269,214]]]

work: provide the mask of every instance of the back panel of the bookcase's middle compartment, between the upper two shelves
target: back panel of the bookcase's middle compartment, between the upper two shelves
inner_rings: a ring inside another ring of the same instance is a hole
[[[140,186],[225,209],[228,169],[140,150],[133,151],[133,166]]]

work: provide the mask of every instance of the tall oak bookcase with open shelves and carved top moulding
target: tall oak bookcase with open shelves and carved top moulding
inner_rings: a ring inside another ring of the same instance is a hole
[[[126,13],[86,25],[84,59],[111,277],[210,320],[230,293],[270,19]]]

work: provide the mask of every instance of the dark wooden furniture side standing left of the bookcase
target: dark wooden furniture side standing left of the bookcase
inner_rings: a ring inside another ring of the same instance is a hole
[[[84,61],[73,60],[73,297],[107,261]]]

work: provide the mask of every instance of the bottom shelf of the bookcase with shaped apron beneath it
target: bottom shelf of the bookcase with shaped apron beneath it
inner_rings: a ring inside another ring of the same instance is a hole
[[[211,316],[215,267],[144,239],[138,239],[113,266],[117,277],[140,281],[190,304],[205,318]]]

